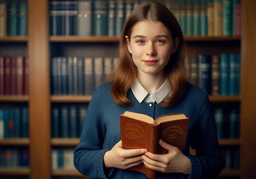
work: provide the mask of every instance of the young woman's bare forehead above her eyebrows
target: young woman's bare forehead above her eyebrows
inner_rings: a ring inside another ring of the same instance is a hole
[[[143,20],[137,22],[132,28],[133,35],[171,35],[167,27],[159,21]]]

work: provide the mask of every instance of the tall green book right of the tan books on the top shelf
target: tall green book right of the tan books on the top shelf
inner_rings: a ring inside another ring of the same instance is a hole
[[[231,36],[233,34],[233,0],[223,0],[222,13],[222,35]]]

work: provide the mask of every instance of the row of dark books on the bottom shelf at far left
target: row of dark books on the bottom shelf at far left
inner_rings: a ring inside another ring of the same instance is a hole
[[[29,167],[28,148],[0,148],[0,168]]]

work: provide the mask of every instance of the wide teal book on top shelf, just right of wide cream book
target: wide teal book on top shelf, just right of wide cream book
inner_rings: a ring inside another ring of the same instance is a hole
[[[94,36],[107,36],[108,2],[105,0],[95,0],[92,4],[92,34]]]

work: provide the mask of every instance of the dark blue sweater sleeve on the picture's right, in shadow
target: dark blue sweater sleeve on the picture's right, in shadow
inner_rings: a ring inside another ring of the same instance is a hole
[[[207,95],[200,107],[195,126],[192,147],[195,148],[196,155],[187,156],[191,160],[189,179],[216,178],[224,167],[225,161],[220,151],[216,123]]]

